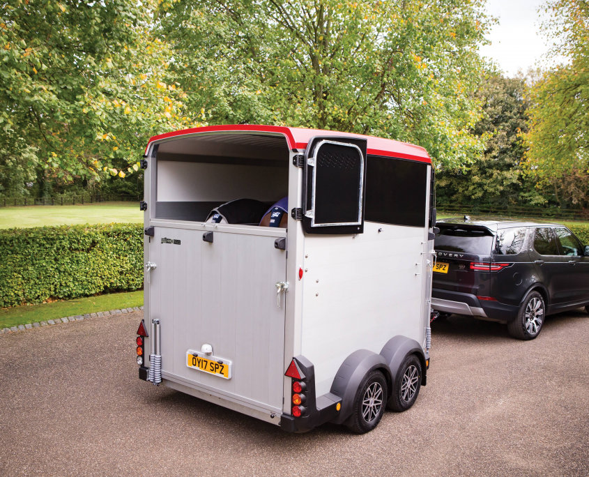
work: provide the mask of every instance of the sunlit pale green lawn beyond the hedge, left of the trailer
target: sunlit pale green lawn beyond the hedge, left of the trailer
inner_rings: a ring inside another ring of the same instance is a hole
[[[45,225],[143,222],[139,202],[100,202],[75,206],[0,207],[0,229]]]

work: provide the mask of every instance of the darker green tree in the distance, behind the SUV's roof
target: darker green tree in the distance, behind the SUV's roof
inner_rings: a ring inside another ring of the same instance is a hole
[[[542,204],[531,178],[523,176],[523,133],[527,132],[528,103],[523,78],[489,73],[477,96],[484,117],[473,133],[486,139],[484,156],[468,167],[441,169],[437,175],[438,201],[490,204],[505,208],[515,204]]]

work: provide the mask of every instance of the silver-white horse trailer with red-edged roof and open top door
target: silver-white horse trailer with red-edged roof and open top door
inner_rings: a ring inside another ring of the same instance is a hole
[[[419,146],[329,130],[152,137],[139,378],[305,432],[372,430],[429,367],[433,173]]]

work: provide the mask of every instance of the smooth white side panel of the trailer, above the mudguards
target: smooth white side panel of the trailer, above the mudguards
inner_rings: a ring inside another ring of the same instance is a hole
[[[357,349],[378,354],[395,335],[424,344],[425,250],[422,227],[365,222],[363,234],[305,236],[301,354],[318,396]]]

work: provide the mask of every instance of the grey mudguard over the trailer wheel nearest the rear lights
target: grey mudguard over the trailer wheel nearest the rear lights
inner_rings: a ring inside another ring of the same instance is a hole
[[[339,412],[332,423],[342,424],[353,412],[353,402],[355,393],[362,382],[362,379],[372,370],[382,370],[387,383],[391,384],[391,374],[388,363],[380,354],[367,349],[358,349],[346,358],[344,363],[339,367],[330,393],[342,398],[342,410]]]

